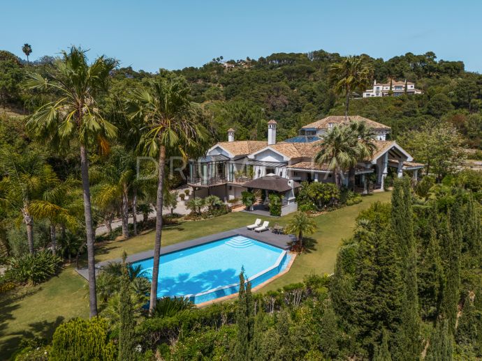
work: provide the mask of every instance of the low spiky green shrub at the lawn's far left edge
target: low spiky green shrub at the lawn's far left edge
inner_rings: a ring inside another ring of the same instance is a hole
[[[62,259],[50,251],[26,254],[10,259],[6,277],[15,282],[39,284],[55,275],[61,263]]]

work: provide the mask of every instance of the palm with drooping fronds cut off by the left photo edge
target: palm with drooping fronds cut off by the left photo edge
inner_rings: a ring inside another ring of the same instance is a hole
[[[27,227],[29,252],[34,253],[34,216],[31,203],[39,199],[46,185],[57,178],[52,167],[45,164],[38,153],[26,152],[23,155],[3,149],[0,163],[4,176],[0,181],[0,204],[18,210]]]

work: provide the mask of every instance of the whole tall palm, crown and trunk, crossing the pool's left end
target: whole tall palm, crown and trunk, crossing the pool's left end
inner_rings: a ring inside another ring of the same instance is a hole
[[[157,77],[149,82],[147,89],[133,91],[128,103],[131,118],[142,124],[139,151],[145,155],[156,156],[159,160],[149,314],[152,314],[157,299],[166,154],[184,154],[184,151],[204,153],[207,148],[205,128],[198,122],[199,112],[189,101],[188,95],[189,87],[182,79]]]

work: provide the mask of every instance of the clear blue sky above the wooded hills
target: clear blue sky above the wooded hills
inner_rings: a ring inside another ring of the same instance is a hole
[[[482,1],[2,1],[0,49],[31,59],[70,45],[157,71],[213,57],[325,49],[389,59],[433,51],[482,72]]]

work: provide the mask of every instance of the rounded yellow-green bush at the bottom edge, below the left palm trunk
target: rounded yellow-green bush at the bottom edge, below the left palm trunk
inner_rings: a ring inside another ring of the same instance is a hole
[[[116,346],[109,341],[108,325],[102,318],[74,318],[54,332],[49,360],[116,360]]]

